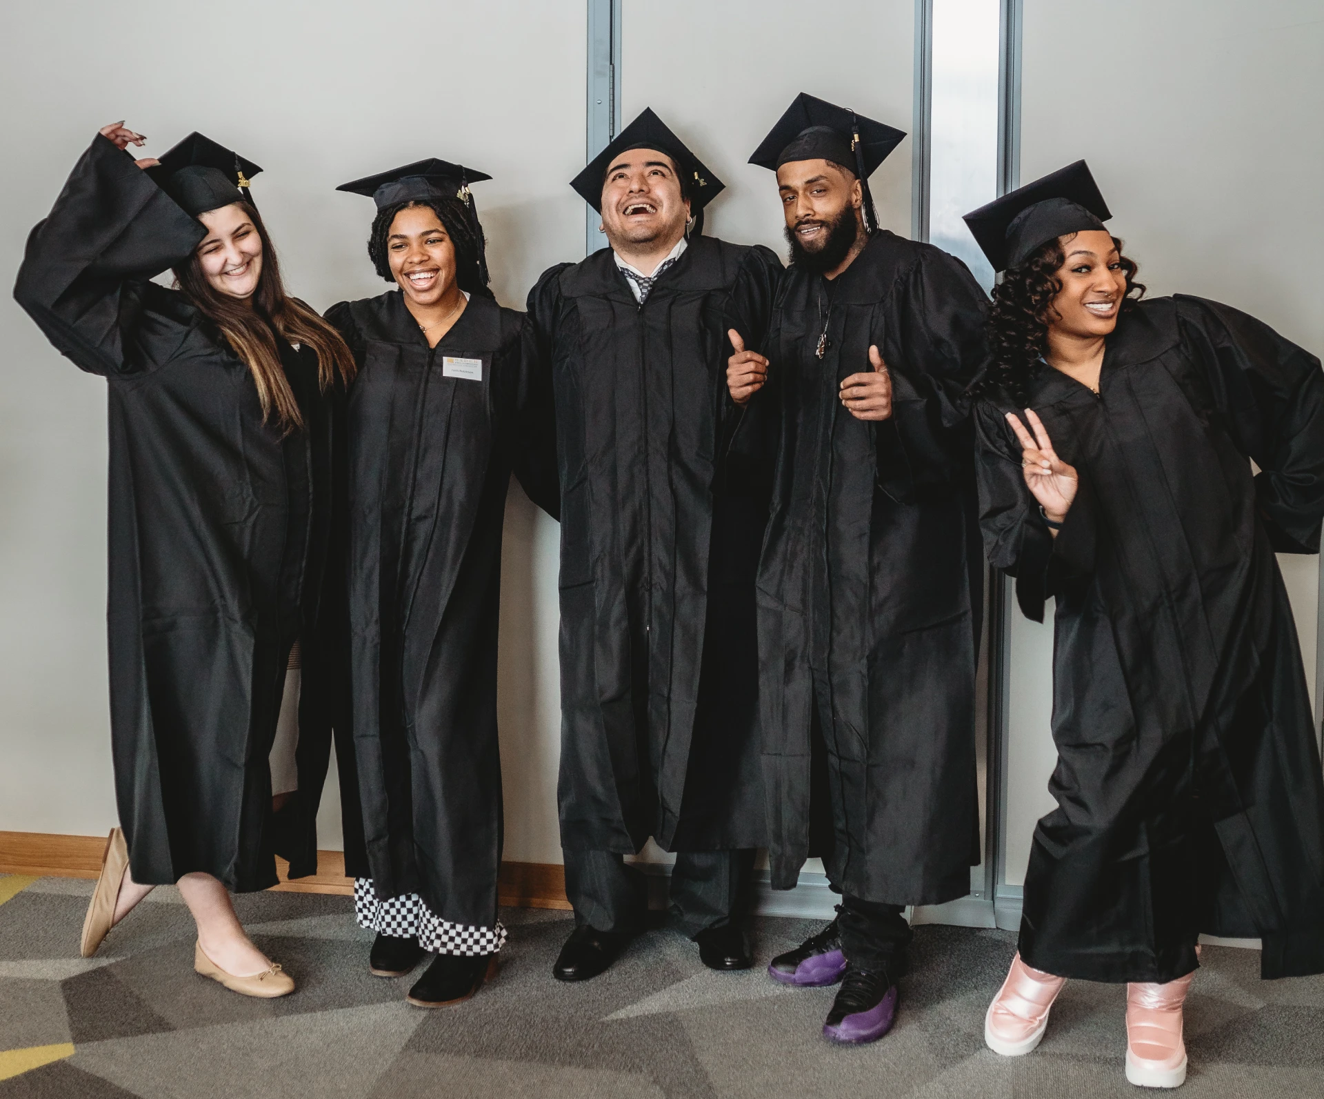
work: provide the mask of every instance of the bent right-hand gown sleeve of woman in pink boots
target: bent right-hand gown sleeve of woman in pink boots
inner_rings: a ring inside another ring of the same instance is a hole
[[[1317,553],[1324,518],[1320,360],[1230,306],[1174,295],[1188,347],[1205,367],[1230,434],[1260,473],[1260,520],[1279,553]]]

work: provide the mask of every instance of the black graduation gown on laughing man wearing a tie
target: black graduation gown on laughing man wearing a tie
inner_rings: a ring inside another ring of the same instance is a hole
[[[753,571],[759,471],[727,448],[727,330],[760,347],[781,263],[695,237],[636,302],[610,249],[548,270],[528,354],[549,371],[561,487],[567,850],[764,842]]]

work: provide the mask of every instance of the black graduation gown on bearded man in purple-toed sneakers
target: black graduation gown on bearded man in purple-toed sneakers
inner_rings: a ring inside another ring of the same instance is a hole
[[[759,568],[772,884],[796,884],[813,830],[846,894],[936,904],[969,892],[980,859],[982,561],[960,395],[985,364],[986,299],[959,260],[886,230],[834,282],[788,270],[755,397],[782,408]],[[892,377],[878,422],[838,396],[870,344]]]

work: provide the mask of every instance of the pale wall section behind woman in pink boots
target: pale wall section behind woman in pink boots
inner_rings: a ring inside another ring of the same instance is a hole
[[[1025,0],[1021,181],[1090,162],[1140,279],[1324,352],[1319,0]],[[1279,557],[1315,690],[1319,559]],[[1051,625],[1013,610],[1006,881],[1053,808]]]

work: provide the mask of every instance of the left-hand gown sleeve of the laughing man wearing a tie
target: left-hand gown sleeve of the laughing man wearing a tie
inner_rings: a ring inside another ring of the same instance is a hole
[[[560,312],[560,275],[569,266],[557,263],[549,267],[528,291],[528,311],[520,331],[519,393],[515,399],[519,409],[512,458],[515,477],[528,498],[557,520],[561,504],[552,346]]]

